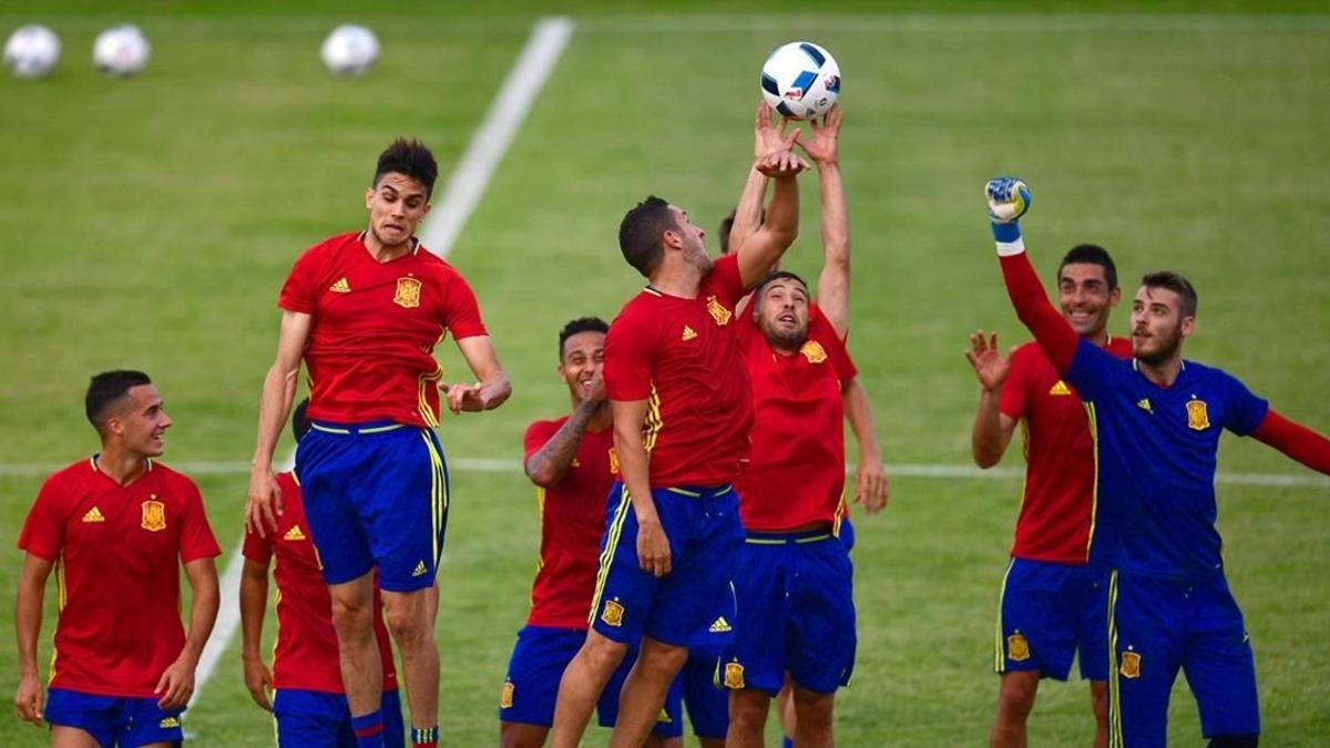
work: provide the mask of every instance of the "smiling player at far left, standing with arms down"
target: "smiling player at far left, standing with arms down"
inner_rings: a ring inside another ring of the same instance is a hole
[[[97,374],[85,413],[101,451],[47,479],[19,535],[27,556],[15,607],[15,708],[33,724],[51,723],[52,745],[177,745],[217,620],[221,548],[194,482],[153,459],[172,419],[152,379]],[[193,592],[188,634],[181,566]],[[60,618],[43,711],[37,636],[52,568]]]

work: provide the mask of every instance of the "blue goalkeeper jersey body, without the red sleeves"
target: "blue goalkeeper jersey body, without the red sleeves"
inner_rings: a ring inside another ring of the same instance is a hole
[[[1095,437],[1091,562],[1189,579],[1222,560],[1214,503],[1220,430],[1252,433],[1269,403],[1218,369],[1186,361],[1160,387],[1081,339],[1067,381],[1085,401]]]

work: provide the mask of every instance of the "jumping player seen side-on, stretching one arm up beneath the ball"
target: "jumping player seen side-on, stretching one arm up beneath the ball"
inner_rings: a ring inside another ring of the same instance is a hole
[[[730,575],[743,528],[733,482],[747,449],[751,402],[734,306],[779,260],[798,230],[806,166],[763,104],[775,177],[767,222],[739,252],[712,262],[705,232],[680,208],[649,197],[620,225],[624,258],[650,283],[605,341],[605,386],[621,483],[610,490],[592,630],[564,672],[555,745],[581,740],[591,709],[628,647],[641,642],[624,684],[612,745],[645,740],[690,646],[733,638]]]

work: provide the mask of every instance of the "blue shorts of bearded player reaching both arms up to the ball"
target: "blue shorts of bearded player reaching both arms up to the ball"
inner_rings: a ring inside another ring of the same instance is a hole
[[[722,683],[775,696],[794,683],[831,693],[854,671],[854,570],[826,531],[750,532],[734,575],[743,632]]]

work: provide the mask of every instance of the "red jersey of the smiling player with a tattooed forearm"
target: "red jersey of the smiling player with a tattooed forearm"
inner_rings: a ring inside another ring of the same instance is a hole
[[[568,421],[537,421],[527,427],[527,458],[540,451]],[[614,430],[587,431],[564,479],[536,488],[540,503],[540,566],[531,587],[531,626],[587,628],[596,590],[605,500],[618,466]]]

